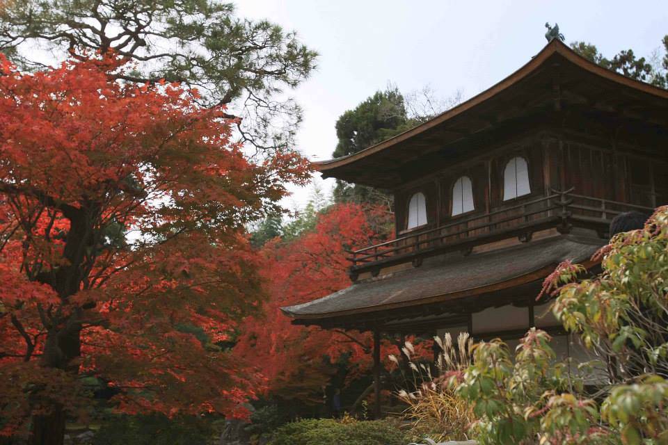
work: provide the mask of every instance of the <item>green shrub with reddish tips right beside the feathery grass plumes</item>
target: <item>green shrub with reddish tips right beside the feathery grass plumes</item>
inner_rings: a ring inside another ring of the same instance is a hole
[[[514,362],[499,339],[477,344],[473,364],[457,379],[461,384],[456,394],[473,405],[478,420],[472,432],[481,444],[527,444],[540,435],[545,439],[541,444],[576,444],[578,438],[594,438],[589,428],[598,419],[591,418],[596,415],[589,412],[591,401],[564,394],[572,385],[581,389],[582,382],[569,379],[564,364],[555,364],[549,343],[546,332],[532,328],[520,342]],[[567,437],[562,435],[564,429]]]

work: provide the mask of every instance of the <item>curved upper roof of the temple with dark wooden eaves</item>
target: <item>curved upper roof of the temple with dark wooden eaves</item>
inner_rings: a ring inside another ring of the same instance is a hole
[[[491,129],[563,109],[594,111],[607,122],[629,120],[668,129],[668,90],[635,81],[552,40],[527,64],[491,88],[423,124],[349,156],[315,162],[323,177],[392,188],[407,180],[405,166],[427,154],[462,149],[462,141]]]

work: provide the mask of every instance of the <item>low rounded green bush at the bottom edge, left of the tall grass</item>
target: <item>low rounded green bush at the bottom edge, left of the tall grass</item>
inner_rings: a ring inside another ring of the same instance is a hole
[[[406,445],[399,427],[390,421],[307,419],[276,430],[271,445]]]

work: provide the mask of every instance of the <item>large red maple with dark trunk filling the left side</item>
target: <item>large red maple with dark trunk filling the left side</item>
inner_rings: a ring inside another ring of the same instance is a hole
[[[308,165],[248,159],[222,108],[123,69],[0,59],[3,435],[61,444],[91,382],[168,415],[229,414],[262,385],[220,343],[264,295],[244,226]]]

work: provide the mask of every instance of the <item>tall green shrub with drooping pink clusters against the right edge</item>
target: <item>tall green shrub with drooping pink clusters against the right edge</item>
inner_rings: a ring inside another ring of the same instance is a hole
[[[578,280],[582,266],[562,264],[546,290],[566,330],[600,357],[608,378],[627,384],[646,374],[668,375],[668,206],[643,229],[621,232],[599,252],[603,272]]]

